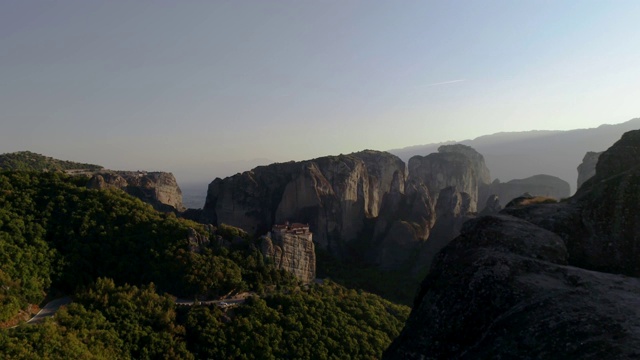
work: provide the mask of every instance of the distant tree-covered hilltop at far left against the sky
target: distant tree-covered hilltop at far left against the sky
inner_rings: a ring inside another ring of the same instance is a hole
[[[0,170],[20,171],[64,171],[64,170],[100,170],[102,166],[58,160],[31,151],[18,151],[0,155]]]

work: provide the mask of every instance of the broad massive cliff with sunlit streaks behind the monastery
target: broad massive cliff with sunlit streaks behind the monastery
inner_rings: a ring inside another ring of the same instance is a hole
[[[384,152],[363,151],[303,162],[260,166],[210,185],[203,221],[251,234],[286,221],[309,223],[316,243],[334,254],[378,215],[394,173],[405,165]]]

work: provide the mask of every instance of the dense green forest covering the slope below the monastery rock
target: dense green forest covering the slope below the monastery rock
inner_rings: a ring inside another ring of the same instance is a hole
[[[376,358],[408,316],[331,282],[299,284],[239,229],[86,180],[0,173],[0,322],[52,292],[73,297],[43,325],[0,330],[5,358]],[[225,309],[174,301],[241,291],[254,295]]]

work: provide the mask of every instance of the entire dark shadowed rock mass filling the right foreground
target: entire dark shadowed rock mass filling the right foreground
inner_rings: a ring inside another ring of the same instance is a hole
[[[640,357],[640,131],[556,204],[467,222],[385,359]]]

